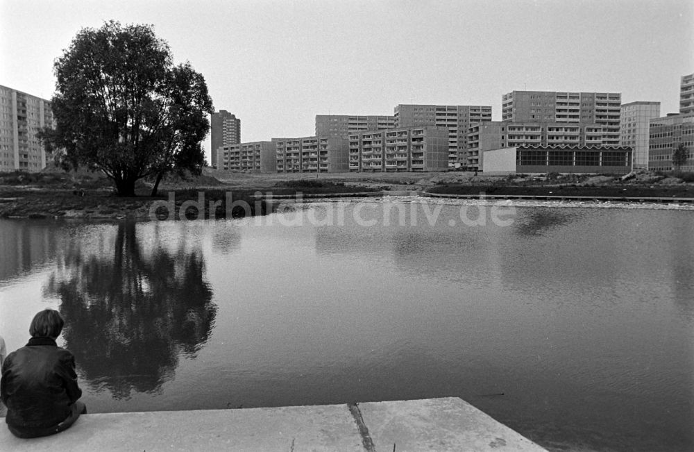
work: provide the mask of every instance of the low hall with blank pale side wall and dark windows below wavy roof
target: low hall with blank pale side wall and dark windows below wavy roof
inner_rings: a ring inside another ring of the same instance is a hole
[[[523,145],[484,152],[484,174],[597,173],[627,174],[632,167],[629,147],[569,147]]]

